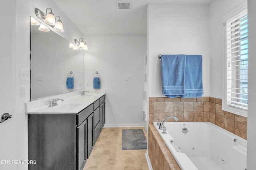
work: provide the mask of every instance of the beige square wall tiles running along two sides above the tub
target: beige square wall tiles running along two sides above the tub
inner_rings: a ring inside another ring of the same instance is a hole
[[[219,98],[149,98],[149,123],[170,115],[179,121],[210,121],[247,139],[247,118],[223,111],[222,99]]]

